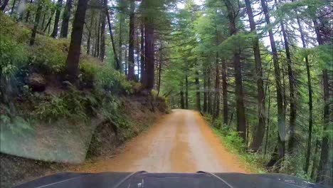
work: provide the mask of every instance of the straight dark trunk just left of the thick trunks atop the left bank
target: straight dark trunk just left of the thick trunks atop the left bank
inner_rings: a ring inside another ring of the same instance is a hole
[[[130,13],[129,13],[129,46],[128,46],[128,74],[129,80],[135,80],[134,74],[134,0],[130,0]]]

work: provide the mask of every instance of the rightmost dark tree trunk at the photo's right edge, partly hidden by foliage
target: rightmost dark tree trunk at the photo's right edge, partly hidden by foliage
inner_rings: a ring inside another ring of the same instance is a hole
[[[319,45],[323,45],[324,42],[322,40],[322,36],[319,32],[319,24],[316,19],[313,20],[315,32],[317,35],[317,42]],[[329,75],[327,72],[327,68],[322,70],[322,85],[324,88],[324,126],[323,126],[323,135],[322,135],[322,145],[321,145],[321,152],[320,152],[320,160],[319,160],[319,167],[316,182],[321,182],[324,184],[328,183],[329,174],[329,133],[327,130],[330,130],[329,126],[332,126],[333,123],[330,120],[330,110],[329,110],[329,97],[332,93],[329,93]],[[331,140],[332,142],[332,140]],[[332,167],[332,164],[331,164]]]

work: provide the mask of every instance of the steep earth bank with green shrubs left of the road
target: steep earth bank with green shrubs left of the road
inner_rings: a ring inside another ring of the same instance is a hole
[[[63,77],[68,40],[29,46],[31,29],[0,16],[1,187],[111,155],[166,112],[164,98],[92,56],[81,56],[75,88]]]

